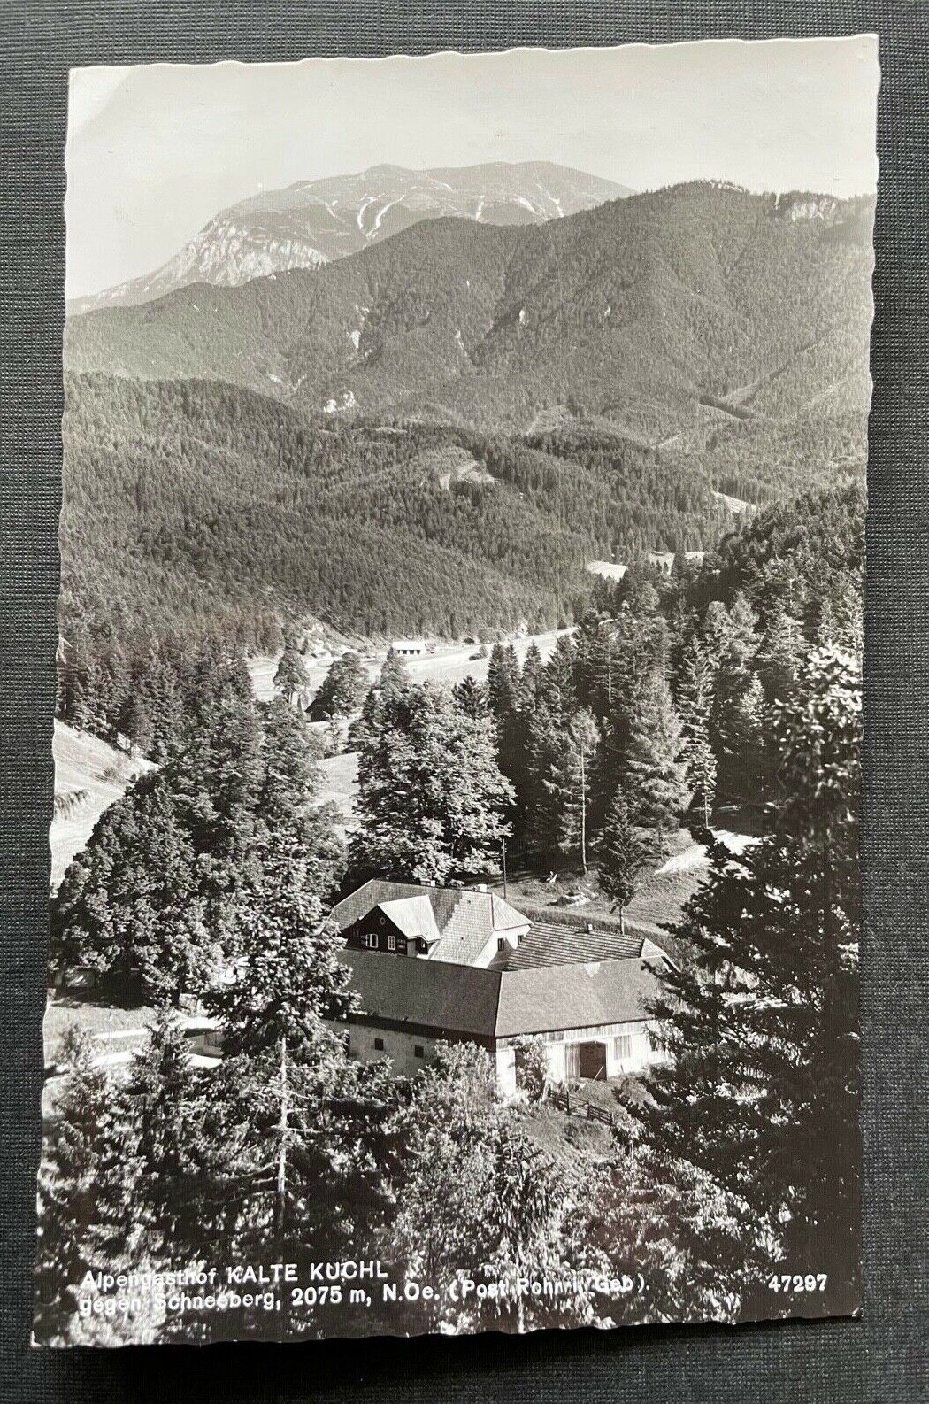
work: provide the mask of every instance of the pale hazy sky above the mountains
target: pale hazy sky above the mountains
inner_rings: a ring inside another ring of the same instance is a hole
[[[873,191],[877,84],[874,37],[73,69],[67,296],[150,272],[246,195],[382,163]]]

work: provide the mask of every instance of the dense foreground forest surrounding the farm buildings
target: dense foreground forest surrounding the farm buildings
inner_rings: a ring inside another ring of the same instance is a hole
[[[372,1255],[439,1285],[399,1311],[289,1300],[282,1334],[776,1316],[790,1303],[770,1283],[787,1268],[822,1275],[824,1310],[849,1310],[862,518],[855,487],[772,507],[678,578],[630,570],[547,663],[495,644],[486,685],[415,684],[390,656],[365,692],[342,661],[327,696],[355,715],[348,851],[286,701],[292,647],[268,705],[216,650],[199,706],[53,904],[60,973],[90,966],[161,1014],[125,1078],[87,1043],[62,1050],[39,1330],[97,1344],[261,1332],[234,1307],[76,1316],[65,1285],[101,1254],[159,1268],[209,1262],[216,1243],[243,1261],[268,1244],[300,1265]],[[740,856],[707,833],[733,809],[752,814]],[[470,1046],[410,1080],[386,1064],[361,1075],[333,1032],[354,1000],[326,918],[340,890],[370,873],[488,875],[508,835],[536,865],[589,865],[622,914],[681,826],[709,842],[710,869],[669,932],[654,1008],[675,1057],[617,1090],[609,1144],[568,1163],[540,1146],[532,1056],[518,1104]],[[175,1022],[191,994],[226,1029],[210,1073]],[[651,1296],[470,1307],[455,1285],[476,1254],[494,1280],[634,1262]]]

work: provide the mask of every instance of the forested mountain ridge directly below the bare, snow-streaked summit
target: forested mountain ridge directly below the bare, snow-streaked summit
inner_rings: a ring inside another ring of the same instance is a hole
[[[570,403],[683,449],[810,423],[860,449],[871,212],[692,183],[540,226],[427,220],[312,274],[72,319],[66,359],[303,413],[526,430]]]

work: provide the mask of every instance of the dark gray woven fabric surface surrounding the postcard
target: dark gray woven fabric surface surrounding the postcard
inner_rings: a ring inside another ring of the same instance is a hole
[[[867,598],[862,1321],[553,1332],[528,1339],[31,1352],[39,1153],[67,67],[514,44],[881,35]],[[0,1398],[39,1401],[689,1401],[929,1398],[929,11],[921,0],[0,0]]]

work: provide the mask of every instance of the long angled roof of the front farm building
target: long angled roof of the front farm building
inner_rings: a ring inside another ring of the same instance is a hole
[[[341,956],[352,969],[361,1014],[375,1022],[474,1039],[644,1019],[647,1001],[658,994],[657,969],[662,962],[657,946],[620,960],[521,970],[484,970],[348,948]]]

